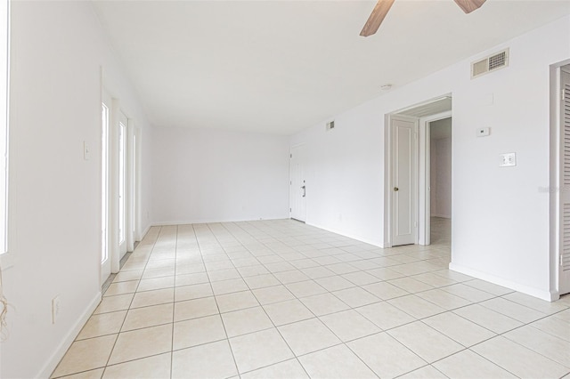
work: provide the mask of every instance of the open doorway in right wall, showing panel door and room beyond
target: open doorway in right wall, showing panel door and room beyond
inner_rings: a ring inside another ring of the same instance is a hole
[[[451,94],[395,111],[386,125],[384,247],[450,246]]]

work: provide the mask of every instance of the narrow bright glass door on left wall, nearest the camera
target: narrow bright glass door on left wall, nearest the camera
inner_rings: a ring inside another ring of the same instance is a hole
[[[101,283],[110,276],[109,249],[109,125],[110,96],[103,94],[101,132]]]

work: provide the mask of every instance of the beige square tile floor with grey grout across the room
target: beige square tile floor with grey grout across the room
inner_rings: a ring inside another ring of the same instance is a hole
[[[152,228],[53,377],[560,378],[570,297],[447,270],[431,246],[289,220]]]

